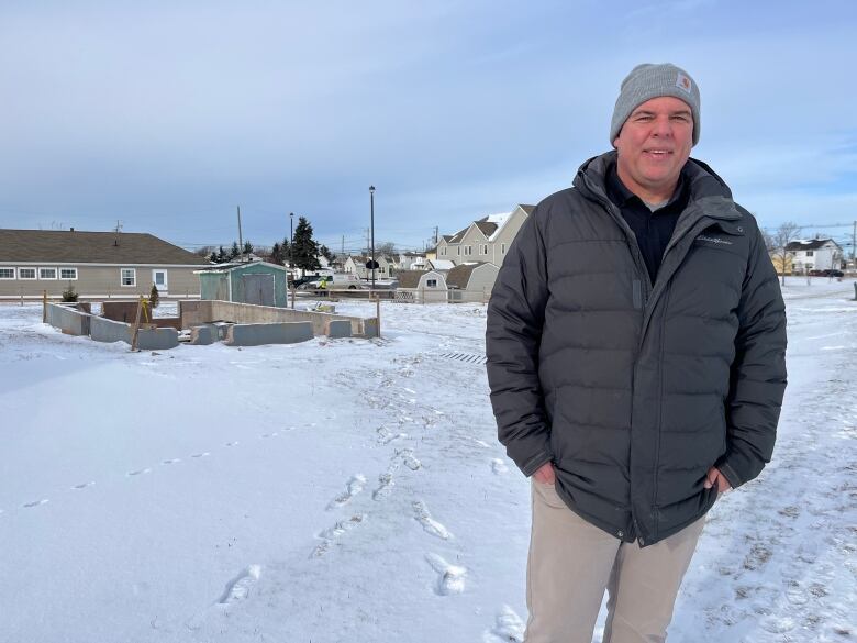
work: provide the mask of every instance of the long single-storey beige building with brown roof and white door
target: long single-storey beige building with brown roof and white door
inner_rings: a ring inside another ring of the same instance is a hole
[[[0,299],[59,297],[69,286],[86,298],[136,298],[156,284],[162,297],[196,298],[193,270],[208,259],[135,232],[0,230]]]

